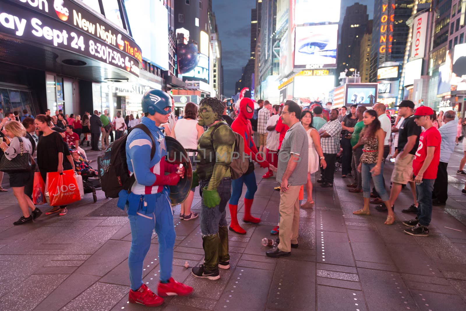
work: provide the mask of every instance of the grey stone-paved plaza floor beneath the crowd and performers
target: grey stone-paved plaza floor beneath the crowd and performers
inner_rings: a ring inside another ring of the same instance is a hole
[[[433,208],[429,237],[403,233],[401,221],[414,218],[401,213],[411,204],[408,188],[397,200],[392,226],[384,225],[386,214],[373,205],[370,216],[353,215],[363,205],[362,194],[349,193],[351,180],[342,179],[339,171],[335,187],[315,185],[315,207],[301,210],[299,248],[289,257],[269,258],[260,240],[276,237],[270,230],[278,221],[280,194],[273,189],[276,181],[262,180],[264,170],[256,168],[252,210],[262,221],[240,221],[246,235],[228,232],[231,268],[210,281],[184,267],[186,261],[190,267],[202,263],[199,218],[181,221],[176,217],[180,207],[175,207],[173,277],[194,291],[165,299],[158,310],[466,310],[465,177],[455,174],[459,147],[448,169],[449,199],[445,207]],[[89,152],[91,159],[96,155]],[[388,163],[385,169],[387,188],[392,167]],[[8,186],[7,176],[3,185]],[[86,194],[64,217],[44,213],[33,224],[13,226],[20,209],[11,189],[0,193],[0,310],[150,310],[128,303],[128,219],[116,207],[117,199],[105,199],[101,191],[97,195],[93,203],[92,194]],[[193,210],[199,206],[196,192]],[[242,212],[241,199],[239,219]],[[143,272],[155,291],[155,234]]]

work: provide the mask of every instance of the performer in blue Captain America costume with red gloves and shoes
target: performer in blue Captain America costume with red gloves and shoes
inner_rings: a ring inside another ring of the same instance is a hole
[[[146,306],[158,306],[164,299],[159,296],[188,295],[192,287],[178,283],[171,277],[175,229],[168,186],[178,183],[184,176],[184,167],[165,162],[166,145],[163,128],[171,113],[171,98],[161,90],[149,90],[142,98],[144,124],[152,134],[136,128],[126,141],[126,162],[136,181],[131,191],[121,190],[118,207],[128,210],[131,227],[131,249],[128,258],[131,289],[129,301]],[[152,141],[155,154],[151,159]],[[165,175],[165,173],[168,173]],[[143,283],[143,262],[151,247],[152,232],[158,236],[160,281],[158,296]]]

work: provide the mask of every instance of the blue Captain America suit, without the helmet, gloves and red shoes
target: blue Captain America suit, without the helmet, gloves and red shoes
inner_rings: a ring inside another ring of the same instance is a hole
[[[131,249],[128,258],[131,289],[137,290],[142,284],[144,257],[151,247],[152,231],[158,235],[158,256],[160,260],[160,281],[171,277],[175,229],[173,212],[169,198],[169,188],[157,185],[157,179],[164,172],[172,172],[172,165],[165,163],[166,147],[163,128],[154,121],[142,117],[141,123],[151,131],[156,144],[156,152],[151,157],[151,138],[141,129],[134,129],[126,142],[128,169],[135,174],[136,182],[130,194],[122,190],[118,207],[128,209],[131,226]]]

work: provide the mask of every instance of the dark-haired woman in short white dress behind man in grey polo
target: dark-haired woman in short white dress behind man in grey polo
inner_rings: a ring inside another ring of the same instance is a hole
[[[309,142],[309,155],[308,155],[308,182],[306,183],[306,193],[308,198],[304,204],[301,205],[302,208],[311,208],[314,206],[314,200],[312,200],[312,180],[311,174],[314,174],[319,170],[320,166],[323,168],[327,167],[325,158],[323,157],[322,147],[320,145],[320,135],[319,132],[311,127],[312,124],[312,113],[311,111],[305,110],[301,114],[301,123],[304,129],[308,132],[308,142]],[[320,161],[319,161],[320,159]]]

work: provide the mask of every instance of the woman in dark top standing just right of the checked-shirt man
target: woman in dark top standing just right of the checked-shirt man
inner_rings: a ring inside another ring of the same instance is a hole
[[[343,117],[342,120],[342,140],[341,145],[343,149],[342,156],[342,177],[346,175],[352,176],[351,174],[351,157],[353,156],[353,149],[351,147],[351,133],[354,132],[354,126],[357,123],[356,117],[356,104],[350,106],[350,114]]]

